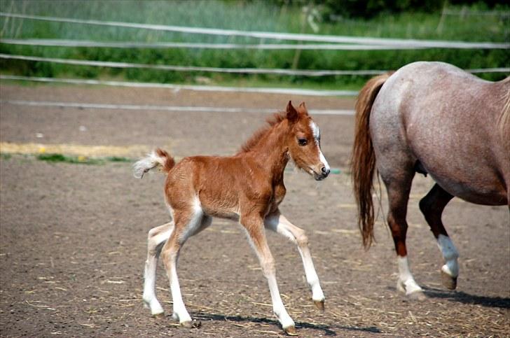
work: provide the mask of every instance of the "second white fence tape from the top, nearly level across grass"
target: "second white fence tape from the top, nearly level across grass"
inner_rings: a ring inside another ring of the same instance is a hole
[[[257,50],[416,50],[429,47],[418,45],[359,45],[338,43],[187,43],[187,42],[132,42],[132,41],[86,41],[46,38],[3,38],[0,43],[8,45],[42,45],[48,47],[93,48],[200,48],[200,49],[257,49]],[[470,48],[470,47],[469,47]]]

